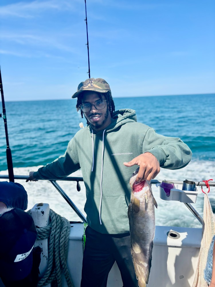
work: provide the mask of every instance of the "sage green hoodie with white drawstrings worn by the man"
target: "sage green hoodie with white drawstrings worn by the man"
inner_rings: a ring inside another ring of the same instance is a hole
[[[114,112],[112,123],[95,132],[79,130],[63,156],[34,172],[36,179],[60,179],[81,168],[86,187],[87,222],[101,233],[129,232],[130,177],[137,166],[126,167],[144,152],[152,153],[163,168],[178,169],[191,160],[191,150],[179,138],[165,137],[142,123],[134,110]]]

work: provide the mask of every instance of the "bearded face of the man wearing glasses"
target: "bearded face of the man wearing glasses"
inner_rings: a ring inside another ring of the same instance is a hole
[[[101,94],[102,100],[106,100],[105,96]],[[111,123],[111,115],[108,109],[108,103],[105,102],[105,107],[101,110],[97,110],[93,104],[96,105],[97,101],[101,101],[98,93],[92,91],[86,91],[83,93],[82,104],[91,104],[91,110],[83,113],[87,121],[92,125],[95,131],[105,129]]]

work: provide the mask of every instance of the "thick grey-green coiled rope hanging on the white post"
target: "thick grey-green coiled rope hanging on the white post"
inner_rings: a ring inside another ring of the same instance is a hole
[[[48,266],[44,276],[38,282],[38,287],[46,286],[51,282],[53,282],[52,286],[61,287],[62,272],[68,287],[73,287],[66,263],[70,228],[69,220],[56,214],[52,209],[50,209],[50,224],[36,228],[37,240],[49,238]]]

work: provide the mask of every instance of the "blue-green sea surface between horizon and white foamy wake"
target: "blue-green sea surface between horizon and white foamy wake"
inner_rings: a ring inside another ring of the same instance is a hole
[[[180,137],[193,159],[215,159],[215,94],[114,98],[116,110],[136,110],[138,122],[159,134]],[[45,165],[64,154],[80,129],[76,100],[7,102],[9,144],[14,167]],[[0,119],[0,165],[7,169],[6,139]],[[138,135],[137,135],[138,136]]]

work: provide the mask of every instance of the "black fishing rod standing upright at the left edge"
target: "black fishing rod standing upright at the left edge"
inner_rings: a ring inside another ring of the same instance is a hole
[[[7,169],[8,169],[8,175],[9,175],[9,181],[14,182],[13,160],[12,160],[12,154],[11,154],[11,149],[9,146],[9,138],[8,138],[8,132],[7,132],[7,117],[6,117],[3,85],[2,85],[2,79],[1,79],[1,67],[0,67],[0,90],[1,90],[1,100],[2,100],[2,109],[3,109],[2,114],[3,114],[4,123],[5,123],[5,136],[6,136],[6,143],[7,143],[7,149],[6,149]],[[0,117],[2,117],[2,114],[0,114]]]

